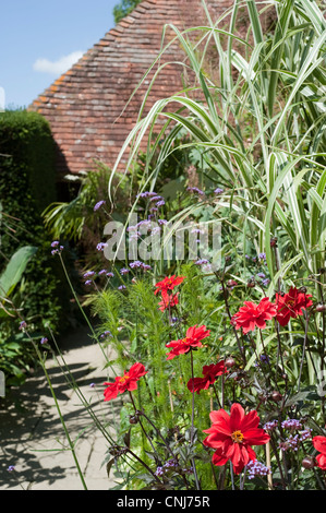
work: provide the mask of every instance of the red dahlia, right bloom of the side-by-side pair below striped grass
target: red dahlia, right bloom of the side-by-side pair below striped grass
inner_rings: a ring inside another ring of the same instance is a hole
[[[302,309],[313,305],[313,301],[309,299],[311,297],[311,294],[300,293],[295,287],[291,287],[283,296],[276,294],[276,320],[279,324],[286,326],[290,318],[295,319],[298,315],[303,315]]]

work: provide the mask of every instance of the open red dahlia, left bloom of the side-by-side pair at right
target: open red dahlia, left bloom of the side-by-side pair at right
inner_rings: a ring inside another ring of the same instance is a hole
[[[266,321],[274,318],[276,313],[276,306],[268,298],[263,298],[259,305],[244,301],[244,307],[241,307],[239,312],[232,317],[232,323],[237,330],[242,327],[243,333],[246,334],[253,332],[255,326],[259,330],[266,327]]]

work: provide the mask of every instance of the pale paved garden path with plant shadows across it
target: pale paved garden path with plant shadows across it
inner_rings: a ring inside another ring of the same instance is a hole
[[[119,418],[119,405],[102,401],[102,383],[108,379],[105,357],[86,329],[60,341],[60,350],[97,417]],[[112,359],[112,355],[108,355]],[[68,386],[62,371],[52,359],[47,369],[88,490],[108,490],[117,485],[102,465],[108,442],[84,409],[75,391]],[[111,372],[111,371],[110,371]],[[95,384],[95,385],[93,385]],[[79,438],[80,437],[80,438]],[[68,446],[58,411],[44,372],[0,398],[0,490],[82,490],[83,485]],[[13,465],[14,470],[8,468]]]

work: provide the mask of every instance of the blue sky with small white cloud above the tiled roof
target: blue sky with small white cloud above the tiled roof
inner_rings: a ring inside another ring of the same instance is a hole
[[[0,0],[0,109],[24,108],[114,26],[119,0]]]

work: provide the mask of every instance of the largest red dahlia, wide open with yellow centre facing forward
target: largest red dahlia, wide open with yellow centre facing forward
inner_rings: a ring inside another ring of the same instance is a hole
[[[225,409],[212,411],[212,428],[204,432],[209,433],[203,441],[204,445],[216,449],[212,463],[217,466],[231,461],[236,474],[256,460],[252,445],[263,445],[268,442],[269,436],[258,428],[259,417],[256,410],[244,414],[240,404],[232,404],[230,415]]]

